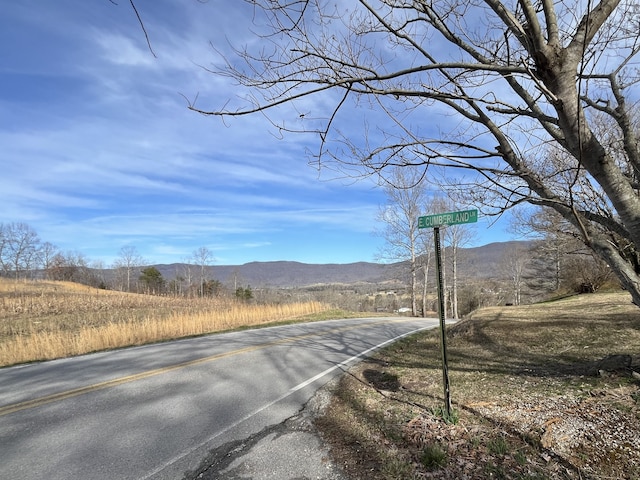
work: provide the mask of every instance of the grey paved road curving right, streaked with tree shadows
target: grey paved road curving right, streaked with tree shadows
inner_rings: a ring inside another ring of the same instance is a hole
[[[0,369],[0,478],[179,479],[435,320],[333,320]]]

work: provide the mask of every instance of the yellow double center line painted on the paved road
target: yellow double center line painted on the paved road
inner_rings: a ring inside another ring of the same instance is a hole
[[[402,320],[391,320],[391,322],[398,322]],[[57,402],[59,400],[66,400],[67,398],[77,397],[78,395],[84,395],[86,393],[95,392],[97,390],[103,390],[105,388],[115,387],[117,385],[122,385],[124,383],[135,382],[137,380],[142,380],[144,378],[153,377],[156,375],[161,375],[163,373],[172,372],[174,370],[179,370],[181,368],[192,367],[194,365],[200,365],[201,363],[212,362],[214,360],[219,360],[221,358],[231,357],[234,355],[240,355],[243,353],[254,352],[256,350],[261,350],[264,348],[274,347],[276,345],[284,345],[287,343],[297,342],[298,340],[304,340],[305,338],[317,337],[321,335],[325,335],[328,333],[337,333],[344,332],[347,330],[354,330],[357,328],[366,328],[373,327],[375,325],[379,325],[381,323],[389,323],[389,320],[382,320],[373,323],[369,323],[366,325],[351,325],[348,327],[340,327],[334,328],[331,330],[324,330],[322,332],[316,333],[307,333],[304,335],[298,335],[295,337],[289,337],[282,340],[274,340],[272,342],[263,343],[260,345],[253,345],[250,347],[240,348],[238,350],[232,350],[230,352],[218,353],[216,355],[211,355],[209,357],[197,358],[195,360],[189,360],[188,362],[177,363],[175,365],[169,365],[167,367],[157,368],[155,370],[149,370],[146,372],[136,373],[134,375],[127,375],[126,377],[115,378],[113,380],[107,380],[106,382],[94,383],[92,385],[87,385],[85,387],[74,388],[72,390],[66,390],[64,392],[54,393],[51,395],[47,395],[44,397],[34,398],[32,400],[26,400],[24,402],[14,403],[11,405],[6,405],[4,407],[0,407],[0,417],[4,415],[9,415],[11,413],[19,412],[21,410],[26,410],[29,408],[40,407],[42,405],[46,405],[48,403]]]

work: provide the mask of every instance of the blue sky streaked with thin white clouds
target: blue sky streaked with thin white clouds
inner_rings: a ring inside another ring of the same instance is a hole
[[[221,121],[235,87],[201,66],[255,42],[241,1],[21,0],[0,16],[0,223],[109,265],[207,247],[217,264],[374,261],[385,202],[372,179],[308,165],[316,139],[274,135],[259,115]],[[204,106],[204,105],[203,105]],[[425,212],[433,213],[433,212]],[[508,240],[481,219],[474,245]]]

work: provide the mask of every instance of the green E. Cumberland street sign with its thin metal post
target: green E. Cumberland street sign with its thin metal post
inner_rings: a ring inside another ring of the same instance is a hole
[[[449,363],[447,361],[447,332],[444,318],[444,286],[442,281],[442,249],[440,247],[440,227],[460,225],[478,221],[478,210],[437,213],[418,218],[418,228],[433,228],[433,242],[436,249],[436,276],[438,286],[438,317],[440,319],[440,345],[442,347],[442,383],[444,384],[444,407],[447,419],[451,418],[451,390],[449,388]]]

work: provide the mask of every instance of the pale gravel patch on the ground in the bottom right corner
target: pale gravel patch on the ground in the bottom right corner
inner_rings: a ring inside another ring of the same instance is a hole
[[[586,398],[520,398],[518,403],[471,406],[476,412],[540,443],[582,478],[638,478],[640,408],[637,385],[594,390]]]

